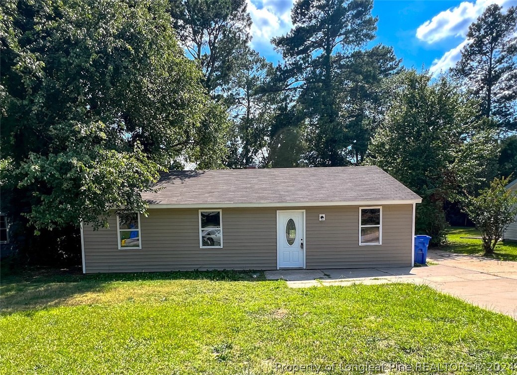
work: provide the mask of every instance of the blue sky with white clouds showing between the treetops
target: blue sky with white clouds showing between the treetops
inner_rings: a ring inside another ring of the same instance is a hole
[[[252,46],[268,61],[277,63],[281,57],[269,40],[291,29],[293,0],[247,1],[253,20]],[[505,9],[517,6],[517,0],[374,0],[377,38],[371,44],[392,46],[408,68],[445,71],[458,61],[467,43],[468,26],[493,3]]]

